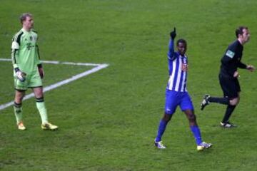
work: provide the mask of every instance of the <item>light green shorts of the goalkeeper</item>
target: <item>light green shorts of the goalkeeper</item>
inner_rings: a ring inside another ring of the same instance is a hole
[[[33,74],[27,74],[25,81],[20,81],[16,76],[14,76],[14,88],[16,90],[27,90],[28,88],[41,87],[42,79],[39,76],[39,72]]]

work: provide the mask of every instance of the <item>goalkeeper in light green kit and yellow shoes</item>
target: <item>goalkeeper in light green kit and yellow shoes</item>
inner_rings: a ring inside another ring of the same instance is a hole
[[[27,88],[32,88],[36,97],[43,130],[56,130],[58,127],[49,123],[44,103],[42,78],[44,70],[39,58],[38,35],[33,30],[34,20],[31,14],[21,14],[21,30],[14,35],[11,44],[11,58],[14,66],[14,114],[19,130],[26,130],[22,121],[22,99]]]

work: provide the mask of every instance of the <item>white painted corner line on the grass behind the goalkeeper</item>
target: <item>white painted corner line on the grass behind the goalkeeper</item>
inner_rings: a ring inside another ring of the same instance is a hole
[[[11,61],[11,59],[6,59],[6,58],[0,58],[0,61]],[[63,86],[67,83],[70,83],[71,81],[76,81],[79,78],[82,78],[84,76],[88,76],[91,73],[96,73],[97,71],[108,67],[109,65],[104,63],[104,64],[95,64],[95,63],[71,63],[71,62],[59,62],[59,61],[42,61],[43,63],[51,63],[51,64],[65,64],[65,65],[76,65],[76,66],[96,66],[94,68],[92,68],[89,71],[85,71],[83,73],[79,73],[75,76],[72,76],[71,78],[68,78],[64,81],[59,81],[58,83],[54,83],[50,86],[46,86],[44,87],[44,92],[49,91],[49,90],[53,90],[55,88],[58,88],[60,86]],[[30,93],[28,95],[25,95],[24,100],[27,100],[29,98],[33,98],[34,97],[34,93]],[[5,108],[8,108],[9,106],[13,105],[14,101],[11,101],[9,103],[5,103],[0,105],[0,110],[3,110]]]

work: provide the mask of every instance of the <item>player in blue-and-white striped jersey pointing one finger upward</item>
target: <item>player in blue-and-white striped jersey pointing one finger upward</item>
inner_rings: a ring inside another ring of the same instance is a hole
[[[178,39],[176,47],[178,51],[174,52],[173,42],[176,37],[176,28],[171,31],[171,40],[169,41],[168,49],[168,73],[169,80],[166,87],[166,104],[163,118],[158,126],[158,133],[154,140],[154,144],[158,148],[166,148],[161,137],[166,130],[166,125],[171,120],[173,113],[175,113],[177,106],[179,105],[181,110],[186,114],[191,131],[196,139],[196,149],[203,150],[211,147],[211,143],[203,142],[201,139],[201,132],[196,123],[196,115],[193,110],[193,103],[191,97],[186,90],[186,80],[188,71],[188,59],[186,57],[186,41],[184,39]]]

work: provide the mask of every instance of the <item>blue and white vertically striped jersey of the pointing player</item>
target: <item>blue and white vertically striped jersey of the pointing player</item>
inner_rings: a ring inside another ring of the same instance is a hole
[[[181,56],[177,51],[174,52],[174,43],[171,40],[168,48],[168,90],[185,92],[186,78],[188,70],[188,60],[186,55]]]

